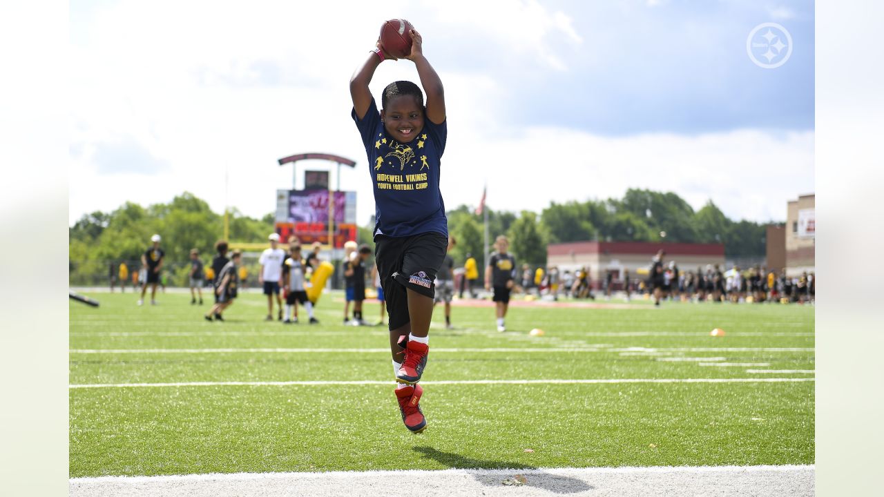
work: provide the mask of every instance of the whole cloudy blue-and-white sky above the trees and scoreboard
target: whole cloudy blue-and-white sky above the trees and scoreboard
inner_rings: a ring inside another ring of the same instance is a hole
[[[278,157],[364,162],[347,80],[396,17],[446,85],[449,206],[486,182],[503,210],[650,187],[765,221],[813,190],[812,3],[104,0],[71,4],[70,220],[183,190],[260,217],[291,186]],[[747,54],[765,22],[792,37],[775,69]],[[397,79],[414,65],[386,62],[372,90]],[[364,167],[341,185],[367,220]]]

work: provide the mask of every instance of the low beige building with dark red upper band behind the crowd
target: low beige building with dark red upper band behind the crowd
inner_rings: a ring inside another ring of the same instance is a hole
[[[592,286],[613,272],[613,289],[623,287],[623,278],[629,271],[629,279],[647,279],[651,259],[662,248],[666,251],[664,264],[675,261],[679,271],[697,271],[706,264],[719,264],[724,268],[724,245],[721,243],[655,243],[644,241],[574,241],[551,243],[546,248],[546,265],[558,266],[560,271],[587,268]]]

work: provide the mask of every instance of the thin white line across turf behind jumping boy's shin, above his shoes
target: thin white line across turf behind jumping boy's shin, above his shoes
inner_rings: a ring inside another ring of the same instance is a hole
[[[670,352],[813,352],[814,348],[606,348],[548,347],[548,348],[433,348],[433,352],[622,352],[656,355]],[[301,353],[389,353],[389,348],[72,348],[71,354],[301,354]],[[660,358],[659,361],[723,361],[724,358]]]

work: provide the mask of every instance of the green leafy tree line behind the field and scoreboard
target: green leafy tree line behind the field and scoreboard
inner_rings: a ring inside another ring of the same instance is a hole
[[[447,216],[449,231],[458,241],[452,250],[455,264],[463,264],[468,253],[482,264],[483,217],[466,205]],[[229,224],[232,241],[266,241],[273,215],[249,218],[233,209]],[[190,249],[208,258],[223,231],[224,216],[188,192],[147,208],[125,203],[112,212],[96,211],[69,228],[71,281],[80,283],[87,275],[106,277],[111,262],[137,262],[153,233],[163,236],[168,263],[177,262],[179,271],[186,272]],[[370,243],[370,233],[371,226],[360,227],[359,241]],[[729,219],[712,201],[695,211],[679,195],[644,189],[629,189],[620,199],[553,202],[540,213],[489,209],[488,234],[489,243],[506,234],[519,263],[532,265],[546,263],[547,244],[567,241],[724,243],[725,254],[734,257],[763,256],[766,251],[766,224]]]

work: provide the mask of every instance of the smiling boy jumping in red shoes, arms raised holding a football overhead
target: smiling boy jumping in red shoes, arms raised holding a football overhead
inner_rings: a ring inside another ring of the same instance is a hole
[[[418,385],[429,353],[433,280],[448,245],[445,203],[439,191],[439,162],[448,128],[442,80],[423,57],[421,34],[409,30],[411,52],[423,94],[411,81],[384,88],[381,111],[369,83],[377,66],[395,60],[380,41],[350,79],[352,117],[369,159],[375,194],[375,260],[387,301],[392,368],[402,421],[423,432],[427,421]]]

